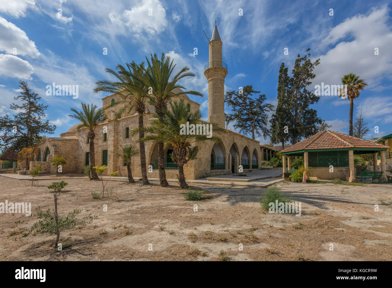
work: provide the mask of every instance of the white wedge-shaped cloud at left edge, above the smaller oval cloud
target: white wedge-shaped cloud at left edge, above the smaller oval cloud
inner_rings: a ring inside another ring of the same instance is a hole
[[[2,17],[0,17],[0,51],[31,57],[40,55],[34,42],[27,37],[25,31]]]

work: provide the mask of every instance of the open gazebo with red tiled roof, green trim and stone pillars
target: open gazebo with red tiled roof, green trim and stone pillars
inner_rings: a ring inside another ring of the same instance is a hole
[[[338,178],[352,182],[355,179],[354,154],[372,153],[374,171],[377,171],[377,154],[388,148],[368,140],[324,130],[280,152],[283,156],[283,177],[286,172],[286,156],[288,170],[291,170],[291,156],[303,156],[305,168],[311,168],[310,179]],[[382,178],[386,178],[385,153],[380,154]]]

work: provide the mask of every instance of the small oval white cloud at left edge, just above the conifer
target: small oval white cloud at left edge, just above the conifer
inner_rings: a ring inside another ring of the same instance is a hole
[[[0,75],[19,78],[31,79],[33,66],[26,60],[20,59],[15,55],[0,54]]]

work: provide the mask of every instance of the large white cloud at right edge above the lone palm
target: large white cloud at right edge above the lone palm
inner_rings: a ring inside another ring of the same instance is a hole
[[[392,31],[388,14],[385,5],[367,15],[347,18],[332,28],[319,47],[334,47],[319,56],[320,65],[314,70],[316,78],[312,83],[340,84],[344,74],[354,72],[366,80],[368,88],[379,89],[377,85],[392,74]],[[374,54],[375,48],[379,49],[379,55]]]

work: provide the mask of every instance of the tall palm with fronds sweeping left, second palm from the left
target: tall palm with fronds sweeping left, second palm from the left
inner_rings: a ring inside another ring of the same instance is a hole
[[[147,97],[146,88],[137,80],[134,81],[133,75],[143,73],[145,70],[144,62],[140,65],[136,64],[134,61],[132,63],[125,63],[126,68],[122,65],[117,65],[116,70],[106,68],[105,71],[114,75],[118,81],[103,80],[97,81],[94,92],[99,91],[110,92],[120,96],[120,100],[116,101],[114,105],[119,105],[121,108],[116,113],[114,117],[115,120],[121,118],[124,112],[130,113],[132,109],[138,112],[139,116],[139,127],[143,127],[143,114],[146,108],[146,102],[149,100]],[[105,109],[111,107],[110,104]],[[140,132],[139,139],[144,137],[144,132]],[[140,149],[140,168],[142,170],[142,181],[144,185],[150,184],[147,179],[147,167],[146,167],[146,155],[145,146],[143,142],[139,142]]]

